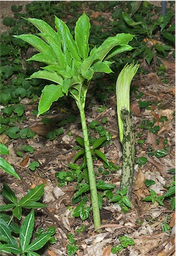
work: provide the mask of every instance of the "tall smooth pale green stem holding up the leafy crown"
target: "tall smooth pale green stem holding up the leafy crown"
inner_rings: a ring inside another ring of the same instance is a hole
[[[93,218],[94,218],[94,227],[97,229],[101,225],[100,221],[100,210],[98,205],[98,193],[96,190],[96,179],[94,174],[94,166],[92,161],[92,154],[90,152],[90,144],[88,140],[88,128],[86,125],[86,117],[84,112],[84,104],[82,102],[76,102],[77,106],[80,110],[80,119],[82,124],[82,132],[84,136],[84,147],[86,152],[86,162],[87,162],[87,168],[88,168],[88,177],[89,177],[89,183],[90,183],[90,195],[91,195],[91,201],[92,201],[92,212],[93,212]]]

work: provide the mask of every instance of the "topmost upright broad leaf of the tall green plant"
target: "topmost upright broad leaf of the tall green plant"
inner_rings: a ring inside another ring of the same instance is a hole
[[[76,21],[76,26],[74,29],[75,42],[78,48],[78,52],[80,57],[84,60],[88,57],[89,53],[89,38],[90,31],[90,22],[88,16],[83,13],[82,16],[79,17],[78,21]]]

